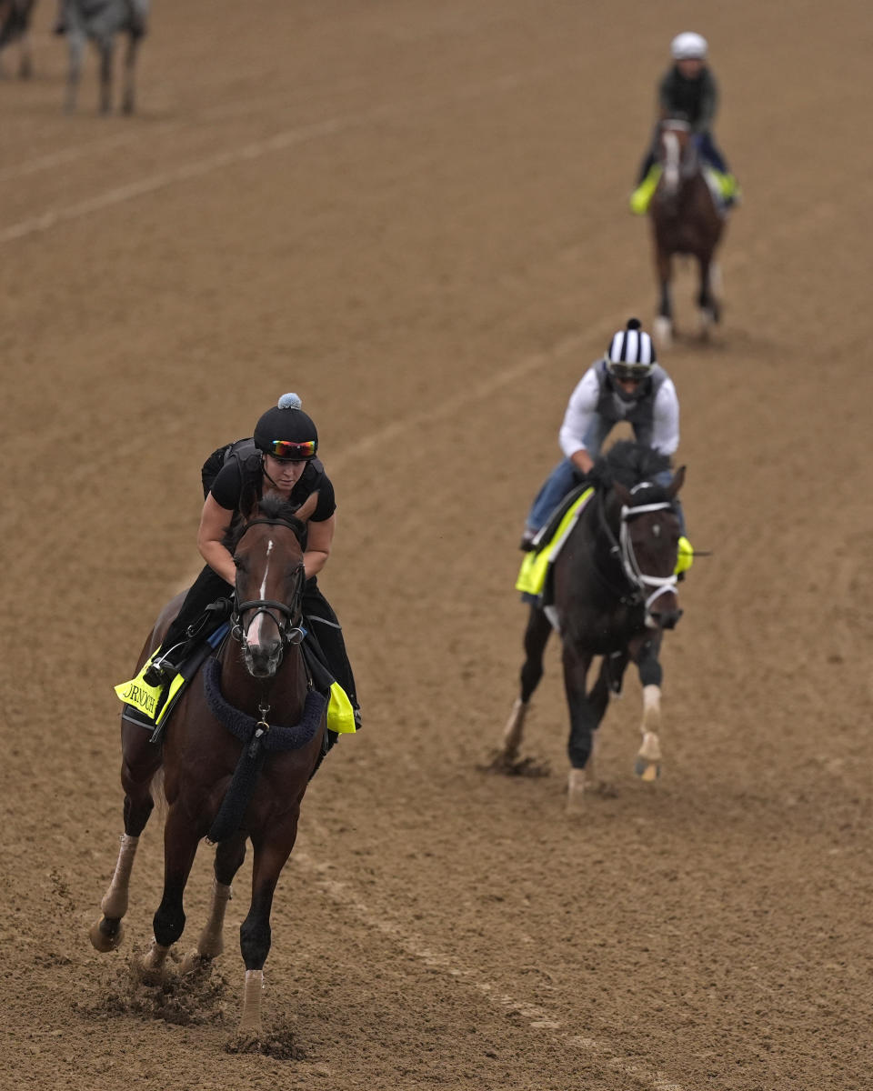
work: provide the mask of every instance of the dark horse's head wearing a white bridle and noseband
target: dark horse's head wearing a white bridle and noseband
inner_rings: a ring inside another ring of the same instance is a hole
[[[629,489],[613,482],[619,502],[619,555],[627,580],[645,602],[646,625],[674,628],[682,616],[675,565],[680,524],[673,499],[685,480],[682,466],[667,488],[641,481]]]

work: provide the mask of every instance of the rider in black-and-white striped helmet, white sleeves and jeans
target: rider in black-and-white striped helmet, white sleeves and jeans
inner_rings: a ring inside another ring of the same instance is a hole
[[[529,550],[537,532],[564,496],[578,484],[619,423],[631,424],[634,439],[662,455],[679,446],[679,398],[673,381],[657,362],[651,337],[630,319],[609,343],[606,355],[585,372],[570,396],[559,443],[564,458],[537,493],[527,516],[522,549]],[[670,471],[657,480],[667,485]],[[682,533],[682,508],[674,502]]]

